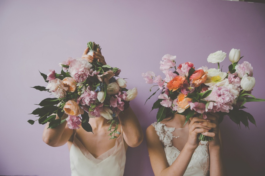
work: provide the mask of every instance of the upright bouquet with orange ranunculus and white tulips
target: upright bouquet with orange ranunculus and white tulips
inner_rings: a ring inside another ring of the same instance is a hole
[[[246,127],[249,126],[249,122],[256,125],[253,116],[243,110],[246,108],[243,106],[246,102],[265,101],[251,95],[255,85],[253,67],[247,61],[238,64],[242,58],[240,50],[232,49],[229,53],[232,64],[229,65],[228,72],[222,72],[219,69],[219,63],[225,57],[226,53],[222,51],[211,53],[207,61],[218,63],[218,68],[195,69],[191,62],[185,62],[176,67],[176,56],[166,54],[160,61],[160,70],[165,74],[165,78],[156,76],[152,71],[142,73],[146,83],[156,83],[159,87],[150,97],[161,90],[158,100],[152,107],[152,110],[158,109],[157,122],[167,116],[181,114],[186,117],[185,123],[187,123],[194,115],[207,118],[208,112],[214,112],[220,115],[219,123],[225,115],[228,115],[239,127],[240,122]],[[213,140],[212,137],[203,134],[199,139]]]

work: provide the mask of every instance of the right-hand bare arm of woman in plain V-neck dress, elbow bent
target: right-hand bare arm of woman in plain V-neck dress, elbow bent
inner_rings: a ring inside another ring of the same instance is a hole
[[[119,114],[119,120],[125,142],[130,147],[140,145],[143,141],[143,130],[131,107]]]

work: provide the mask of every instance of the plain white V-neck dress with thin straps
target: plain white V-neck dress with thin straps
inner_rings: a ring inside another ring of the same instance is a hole
[[[126,151],[122,134],[115,146],[95,158],[76,138],[70,148],[70,166],[72,176],[122,176],[124,173]]]

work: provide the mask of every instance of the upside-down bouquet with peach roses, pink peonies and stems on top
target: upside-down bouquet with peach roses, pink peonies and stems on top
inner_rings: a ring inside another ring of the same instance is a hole
[[[89,42],[90,52],[95,52],[100,46]],[[90,55],[90,52],[87,53]],[[38,105],[31,114],[39,117],[39,124],[49,122],[49,128],[55,128],[67,121],[71,129],[84,128],[92,132],[89,118],[104,117],[110,120],[111,139],[117,138],[119,113],[129,107],[129,102],[137,96],[137,88],[126,89],[125,79],[119,76],[121,70],[117,67],[104,65],[97,60],[88,62],[86,59],[69,57],[66,61],[59,63],[62,66],[60,73],[49,70],[49,74],[40,73],[47,82],[46,87],[35,86],[40,91],[47,91],[55,98],[46,98]],[[59,119],[56,119],[56,114]],[[66,114],[68,117],[63,119]],[[35,121],[37,121],[35,120]],[[34,120],[29,120],[34,124]],[[112,125],[116,124],[115,128]]]

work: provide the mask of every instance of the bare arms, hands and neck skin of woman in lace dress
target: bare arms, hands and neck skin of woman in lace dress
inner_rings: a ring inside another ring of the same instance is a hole
[[[168,165],[164,146],[156,134],[155,128],[150,125],[146,130],[147,148],[150,162],[155,176],[182,176],[184,175],[195,149],[199,145],[198,135],[203,133],[205,136],[213,137],[214,141],[208,142],[210,156],[210,175],[226,175],[221,153],[221,140],[218,126],[218,116],[208,114],[207,119],[198,117],[191,118],[185,123],[185,117],[176,114],[170,121],[163,122],[168,127],[188,128],[188,140],[181,150],[177,159],[171,166]],[[210,131],[211,130],[211,131]]]

